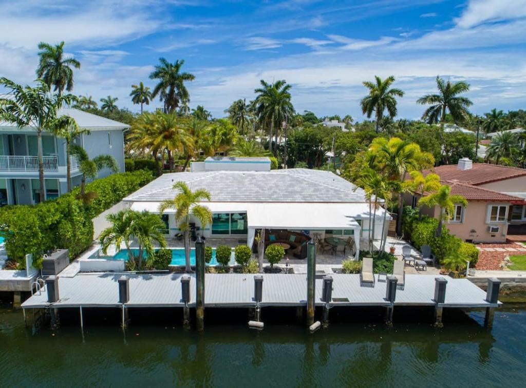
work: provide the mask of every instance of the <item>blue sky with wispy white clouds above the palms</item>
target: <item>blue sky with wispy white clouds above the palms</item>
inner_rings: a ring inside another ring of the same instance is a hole
[[[526,0],[0,2],[0,76],[35,78],[37,43],[82,62],[74,93],[138,110],[130,85],[163,56],[185,59],[190,106],[223,115],[260,79],[292,84],[296,109],[362,120],[363,80],[394,75],[399,117],[437,75],[471,84],[472,111],[526,108]],[[150,107],[160,106],[155,101]]]

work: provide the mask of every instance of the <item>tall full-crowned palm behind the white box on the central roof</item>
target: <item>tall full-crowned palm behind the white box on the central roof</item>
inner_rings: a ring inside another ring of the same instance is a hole
[[[273,84],[267,83],[265,80],[260,80],[261,87],[254,90],[257,93],[255,99],[256,111],[258,119],[264,125],[269,126],[269,149],[272,152],[272,134],[275,132],[276,146],[274,154],[277,152],[278,145],[278,128],[281,123],[286,121],[288,117],[294,115],[294,106],[292,106],[291,96],[289,93],[292,85],[287,84],[284,79],[280,79]]]

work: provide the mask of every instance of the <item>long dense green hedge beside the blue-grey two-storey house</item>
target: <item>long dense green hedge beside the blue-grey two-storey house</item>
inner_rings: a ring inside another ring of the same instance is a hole
[[[0,208],[0,236],[5,239],[7,256],[24,266],[24,256],[36,258],[56,248],[69,249],[75,258],[93,242],[93,222],[104,210],[152,179],[148,171],[123,172],[97,179],[86,185],[86,192],[96,192],[85,206],[72,193],[38,205],[15,205]],[[21,267],[21,268],[22,268]]]

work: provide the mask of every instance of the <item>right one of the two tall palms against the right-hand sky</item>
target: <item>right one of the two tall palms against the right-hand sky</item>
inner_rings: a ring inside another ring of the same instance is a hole
[[[437,76],[437,88],[438,94],[427,94],[417,100],[418,104],[431,105],[424,111],[422,120],[428,124],[436,124],[440,121],[443,125],[448,110],[455,122],[468,117],[468,107],[473,103],[467,97],[459,96],[469,90],[468,83],[464,81],[451,83],[449,79],[445,82]]]

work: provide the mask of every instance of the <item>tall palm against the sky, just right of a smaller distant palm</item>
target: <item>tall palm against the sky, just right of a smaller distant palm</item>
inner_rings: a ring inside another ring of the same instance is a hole
[[[159,95],[160,100],[164,101],[165,113],[170,113],[179,106],[179,101],[190,101],[185,81],[193,81],[195,76],[190,73],[180,73],[181,66],[185,63],[184,59],[177,59],[173,64],[165,58],[159,58],[159,65],[150,74],[150,79],[158,79],[159,83],[155,86],[151,97]]]

